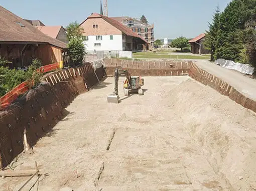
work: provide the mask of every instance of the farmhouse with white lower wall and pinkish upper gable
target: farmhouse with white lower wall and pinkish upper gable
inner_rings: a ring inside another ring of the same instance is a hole
[[[87,36],[86,49],[138,51],[148,48],[148,41],[119,21],[107,16],[92,13],[80,26]]]

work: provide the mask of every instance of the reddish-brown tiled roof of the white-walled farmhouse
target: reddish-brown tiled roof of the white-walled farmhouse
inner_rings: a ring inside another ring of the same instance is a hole
[[[145,40],[143,37],[141,37],[139,34],[135,33],[133,30],[127,28],[126,26],[122,25],[121,22],[104,16],[102,14],[98,14],[98,13],[92,13],[90,16],[88,16],[82,23],[84,23],[88,18],[103,18],[105,21],[107,21],[109,24],[111,24],[112,26],[116,27],[118,30],[120,30],[121,32],[123,32],[124,34],[128,35],[128,36],[134,36],[137,38],[142,39],[143,41],[145,41],[146,43],[149,43],[147,40]],[[81,23],[81,24],[82,24]],[[81,25],[80,24],[80,25]]]

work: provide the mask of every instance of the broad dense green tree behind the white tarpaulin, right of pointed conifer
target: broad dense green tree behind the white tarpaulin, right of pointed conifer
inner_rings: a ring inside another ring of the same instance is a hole
[[[219,16],[219,30],[214,58],[242,61],[245,23],[251,18],[256,0],[232,0]]]

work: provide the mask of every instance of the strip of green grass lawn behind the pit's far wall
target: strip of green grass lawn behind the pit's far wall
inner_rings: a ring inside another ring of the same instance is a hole
[[[162,59],[210,59],[209,55],[183,55],[168,54],[167,52],[136,52],[133,53],[134,58],[162,58]]]

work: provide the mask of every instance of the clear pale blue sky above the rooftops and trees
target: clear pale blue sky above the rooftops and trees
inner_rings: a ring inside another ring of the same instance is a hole
[[[156,38],[194,37],[207,29],[219,4],[230,0],[108,0],[108,16],[140,17],[155,25]],[[40,19],[45,25],[66,26],[100,11],[100,0],[0,0],[20,17]]]

